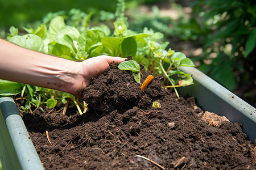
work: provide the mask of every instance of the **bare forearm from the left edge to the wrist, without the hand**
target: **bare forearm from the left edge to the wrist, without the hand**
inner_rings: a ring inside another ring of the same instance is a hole
[[[76,76],[81,77],[76,73],[80,62],[0,42],[0,79],[69,92]]]

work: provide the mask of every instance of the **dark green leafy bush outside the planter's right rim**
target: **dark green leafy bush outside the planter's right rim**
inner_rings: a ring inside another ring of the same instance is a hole
[[[187,27],[204,43],[199,69],[234,90],[234,71],[255,73],[255,26],[256,5],[252,0],[194,1]]]

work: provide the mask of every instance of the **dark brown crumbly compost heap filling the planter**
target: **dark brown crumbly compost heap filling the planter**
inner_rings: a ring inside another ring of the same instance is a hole
[[[141,82],[150,74],[142,73]],[[158,76],[142,90],[130,71],[111,65],[83,90],[89,111],[82,116],[71,109],[64,116],[56,109],[24,114],[44,168],[256,168],[254,146],[240,124],[208,125],[193,97],[177,100],[162,82]],[[161,107],[152,107],[154,101]]]

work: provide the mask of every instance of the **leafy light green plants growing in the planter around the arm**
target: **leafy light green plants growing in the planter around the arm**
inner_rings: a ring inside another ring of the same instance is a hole
[[[164,53],[168,42],[160,42],[162,33],[148,28],[144,28],[142,33],[128,29],[124,1],[118,1],[116,11],[113,33],[104,24],[91,27],[89,23],[92,14],[72,9],[68,15],[64,15],[64,12],[46,15],[44,22],[38,27],[23,28],[27,31],[25,35],[18,35],[19,29],[10,27],[7,39],[24,48],[74,61],[83,61],[101,54],[133,56],[135,61],[142,63],[145,69],[152,71],[154,75],[164,74],[179,97],[176,87],[193,84],[193,81],[191,75],[183,73],[178,67],[195,66],[193,62],[183,53],[171,49]],[[140,74],[136,74],[136,78],[139,81],[138,75]],[[43,105],[54,108],[65,104],[67,107],[69,101],[69,107],[77,107],[80,114],[87,110],[84,101],[65,92],[6,80],[0,81],[0,90],[0,95],[20,94],[24,97],[26,105],[21,107],[23,112],[35,112],[36,109],[43,111]]]

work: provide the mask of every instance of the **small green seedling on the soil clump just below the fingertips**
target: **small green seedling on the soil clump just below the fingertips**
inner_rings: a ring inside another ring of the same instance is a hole
[[[136,61],[123,61],[118,65],[118,69],[133,71],[135,81],[141,84],[141,75],[143,76],[143,74],[141,73],[141,67]]]

